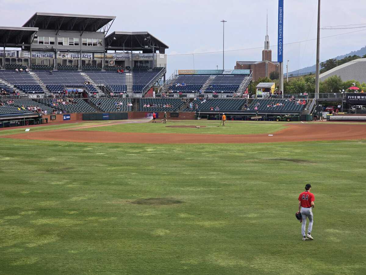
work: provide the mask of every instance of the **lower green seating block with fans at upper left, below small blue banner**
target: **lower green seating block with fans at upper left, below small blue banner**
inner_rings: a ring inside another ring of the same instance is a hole
[[[83,99],[63,99],[62,102],[67,104],[63,104],[55,99],[41,99],[40,102],[43,104],[50,106],[52,108],[57,108],[62,111],[66,111],[66,113],[92,113],[96,110],[91,107],[88,103],[86,103]]]

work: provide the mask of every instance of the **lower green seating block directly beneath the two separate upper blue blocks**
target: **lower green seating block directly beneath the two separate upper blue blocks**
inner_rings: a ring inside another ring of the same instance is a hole
[[[203,100],[202,100],[203,101]],[[193,100],[193,110],[195,109],[195,104],[198,105],[197,110],[210,110],[211,107],[215,109],[216,107],[219,107],[220,111],[222,110],[241,110],[244,103],[246,102],[246,99],[219,99],[219,98],[209,98],[206,99],[206,102],[201,103],[198,98],[196,100]],[[186,109],[186,111],[189,111],[189,108]]]

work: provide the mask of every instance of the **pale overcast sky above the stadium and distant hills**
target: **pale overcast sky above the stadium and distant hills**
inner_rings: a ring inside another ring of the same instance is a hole
[[[284,61],[289,71],[315,64],[317,0],[284,0]],[[321,26],[366,23],[365,0],[322,0]],[[222,68],[223,26],[225,23],[225,69],[234,69],[236,60],[261,60],[268,34],[272,60],[277,60],[277,0],[0,0],[2,26],[22,26],[34,12],[115,15],[111,31],[148,31],[169,45],[168,69]],[[359,29],[321,30],[321,37]],[[110,31],[110,32],[111,32]],[[366,30],[321,40],[321,61],[346,54],[366,45]],[[258,47],[258,48],[257,48]],[[257,49],[249,49],[257,48]],[[242,49],[239,51],[232,51]],[[183,55],[195,53],[193,55]],[[193,63],[194,62],[194,63]]]

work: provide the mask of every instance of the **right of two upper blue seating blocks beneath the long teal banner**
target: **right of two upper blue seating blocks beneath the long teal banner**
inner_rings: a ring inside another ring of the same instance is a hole
[[[247,74],[217,75],[208,83],[206,92],[233,94],[238,91],[240,84],[247,77]]]

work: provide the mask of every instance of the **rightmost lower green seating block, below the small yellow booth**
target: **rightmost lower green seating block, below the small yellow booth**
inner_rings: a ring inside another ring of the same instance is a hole
[[[267,107],[268,104],[276,103],[282,103],[283,106]],[[248,106],[247,110],[253,111],[255,106],[257,106],[258,111],[265,112],[301,112],[305,105],[296,104],[296,101],[289,101],[287,99],[255,99]]]

